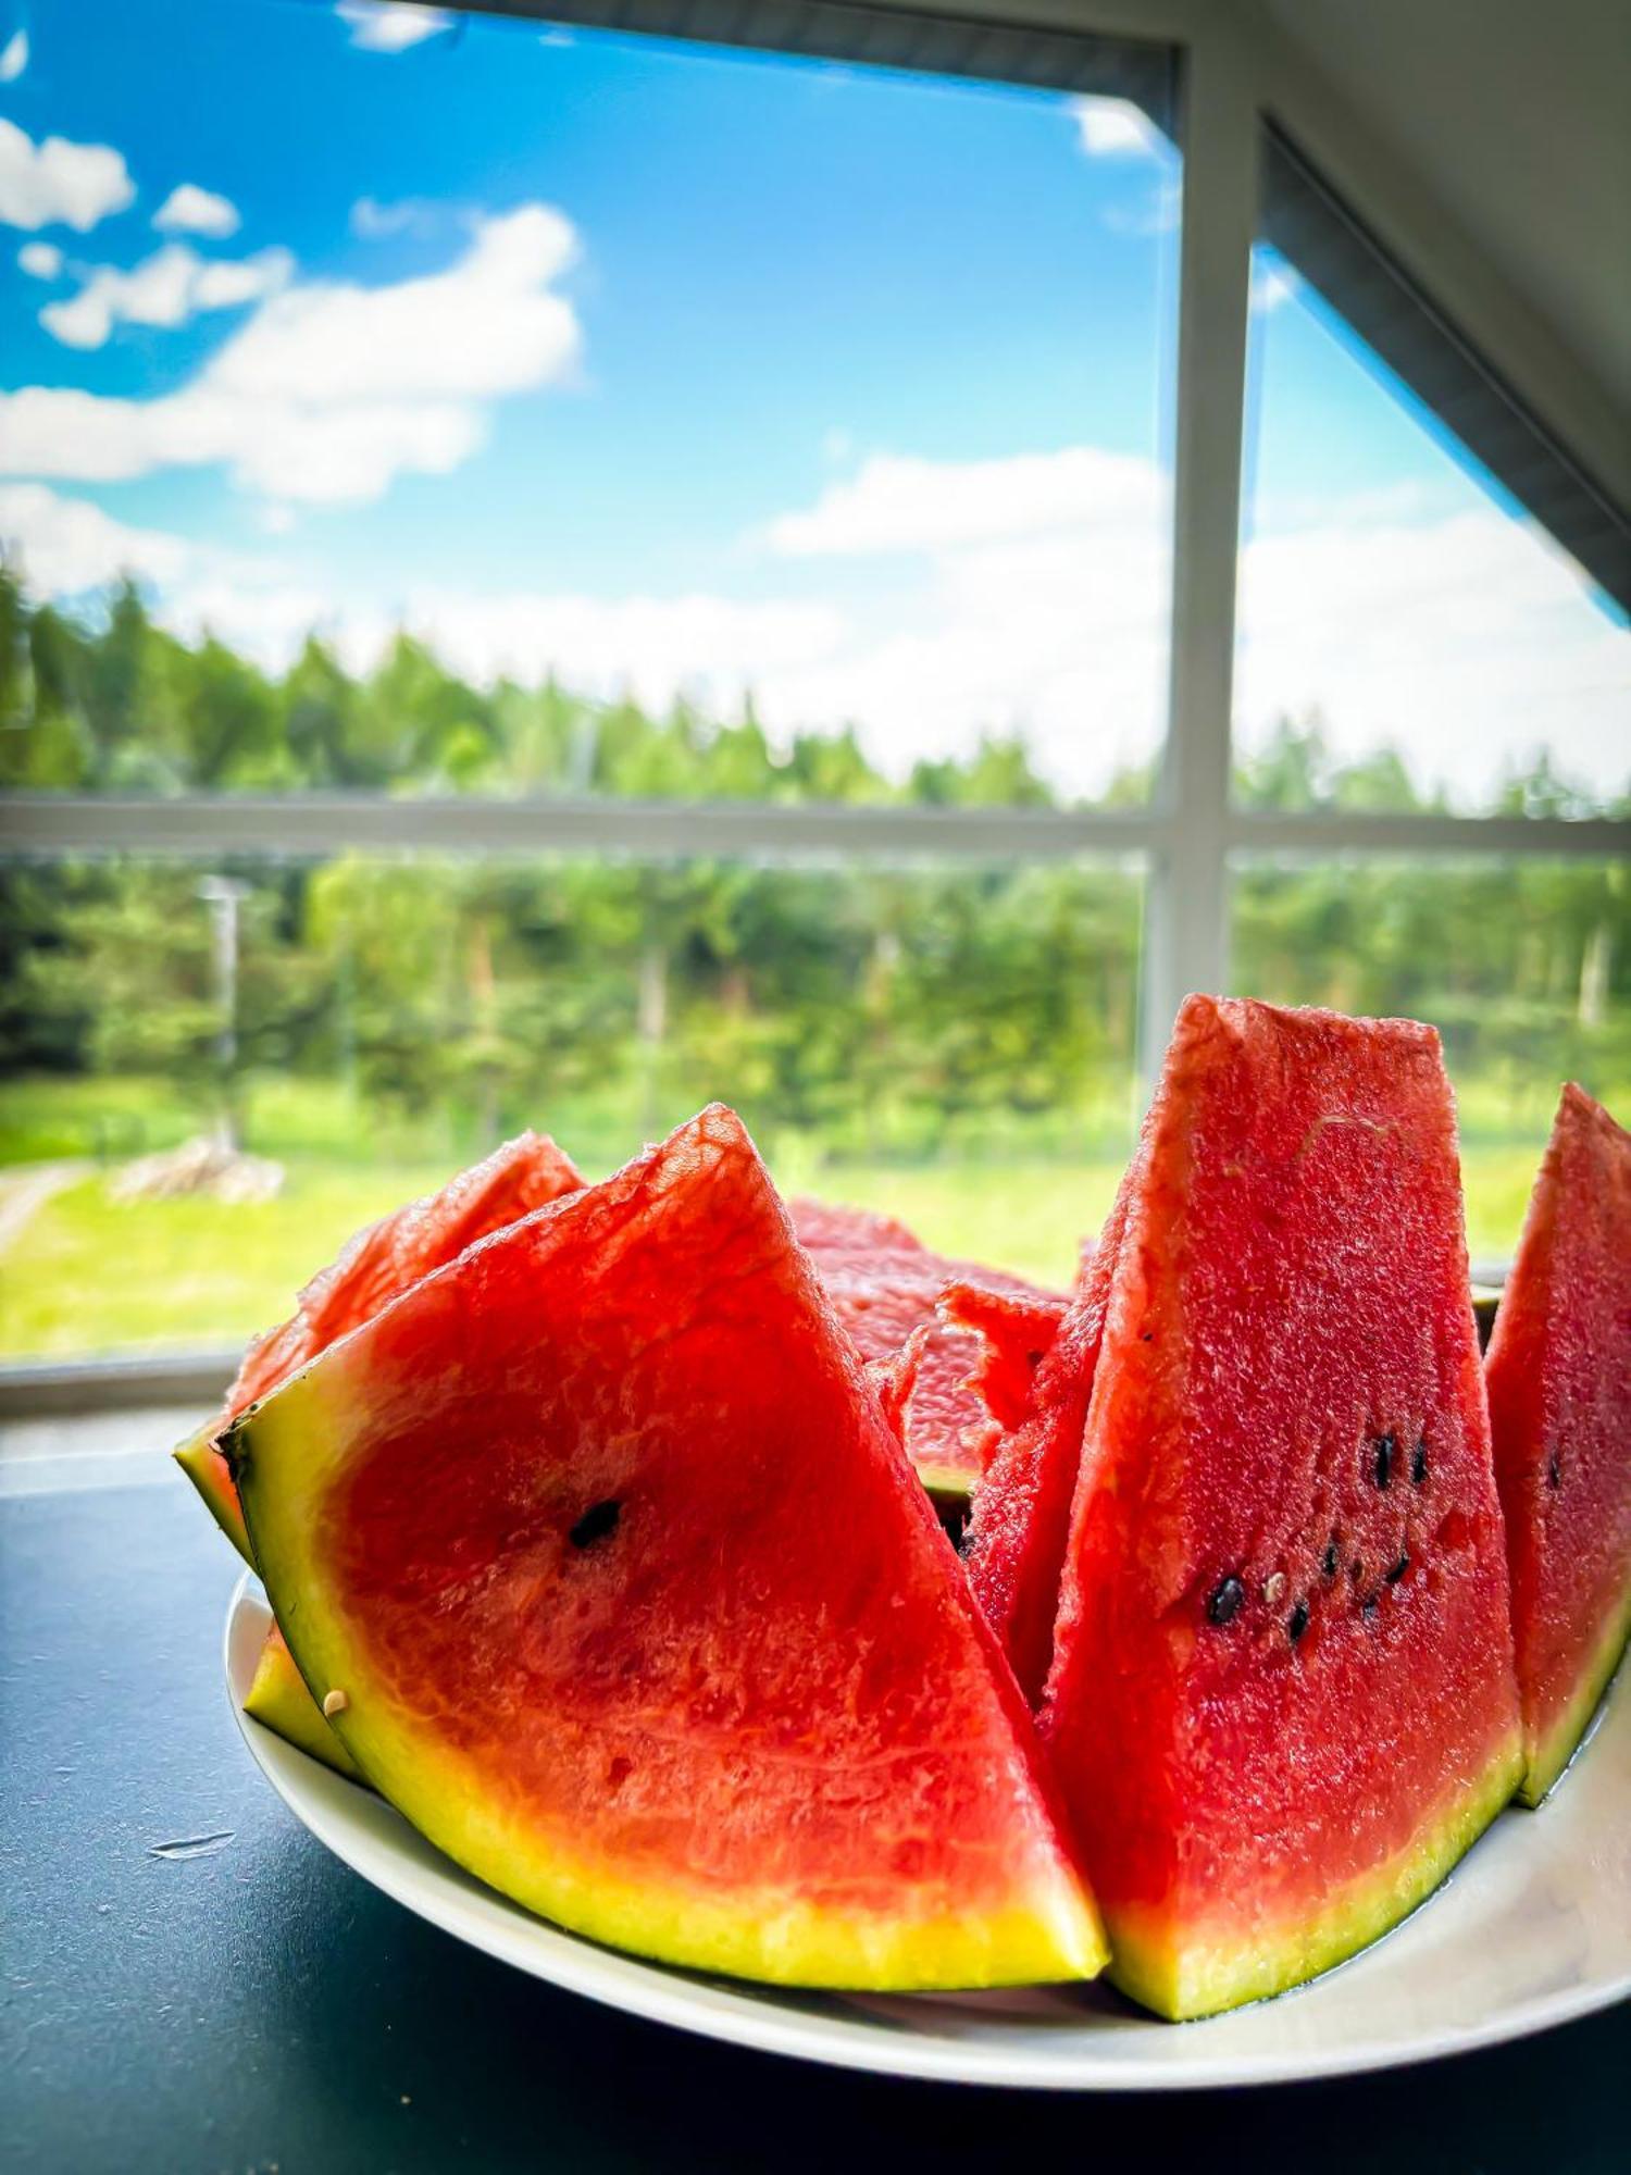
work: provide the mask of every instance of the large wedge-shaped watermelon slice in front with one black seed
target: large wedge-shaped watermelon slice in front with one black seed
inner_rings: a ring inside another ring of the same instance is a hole
[[[785,1984],[1103,1962],[1018,1686],[731,1111],[418,1283],[226,1455],[350,1755],[531,1910]]]

